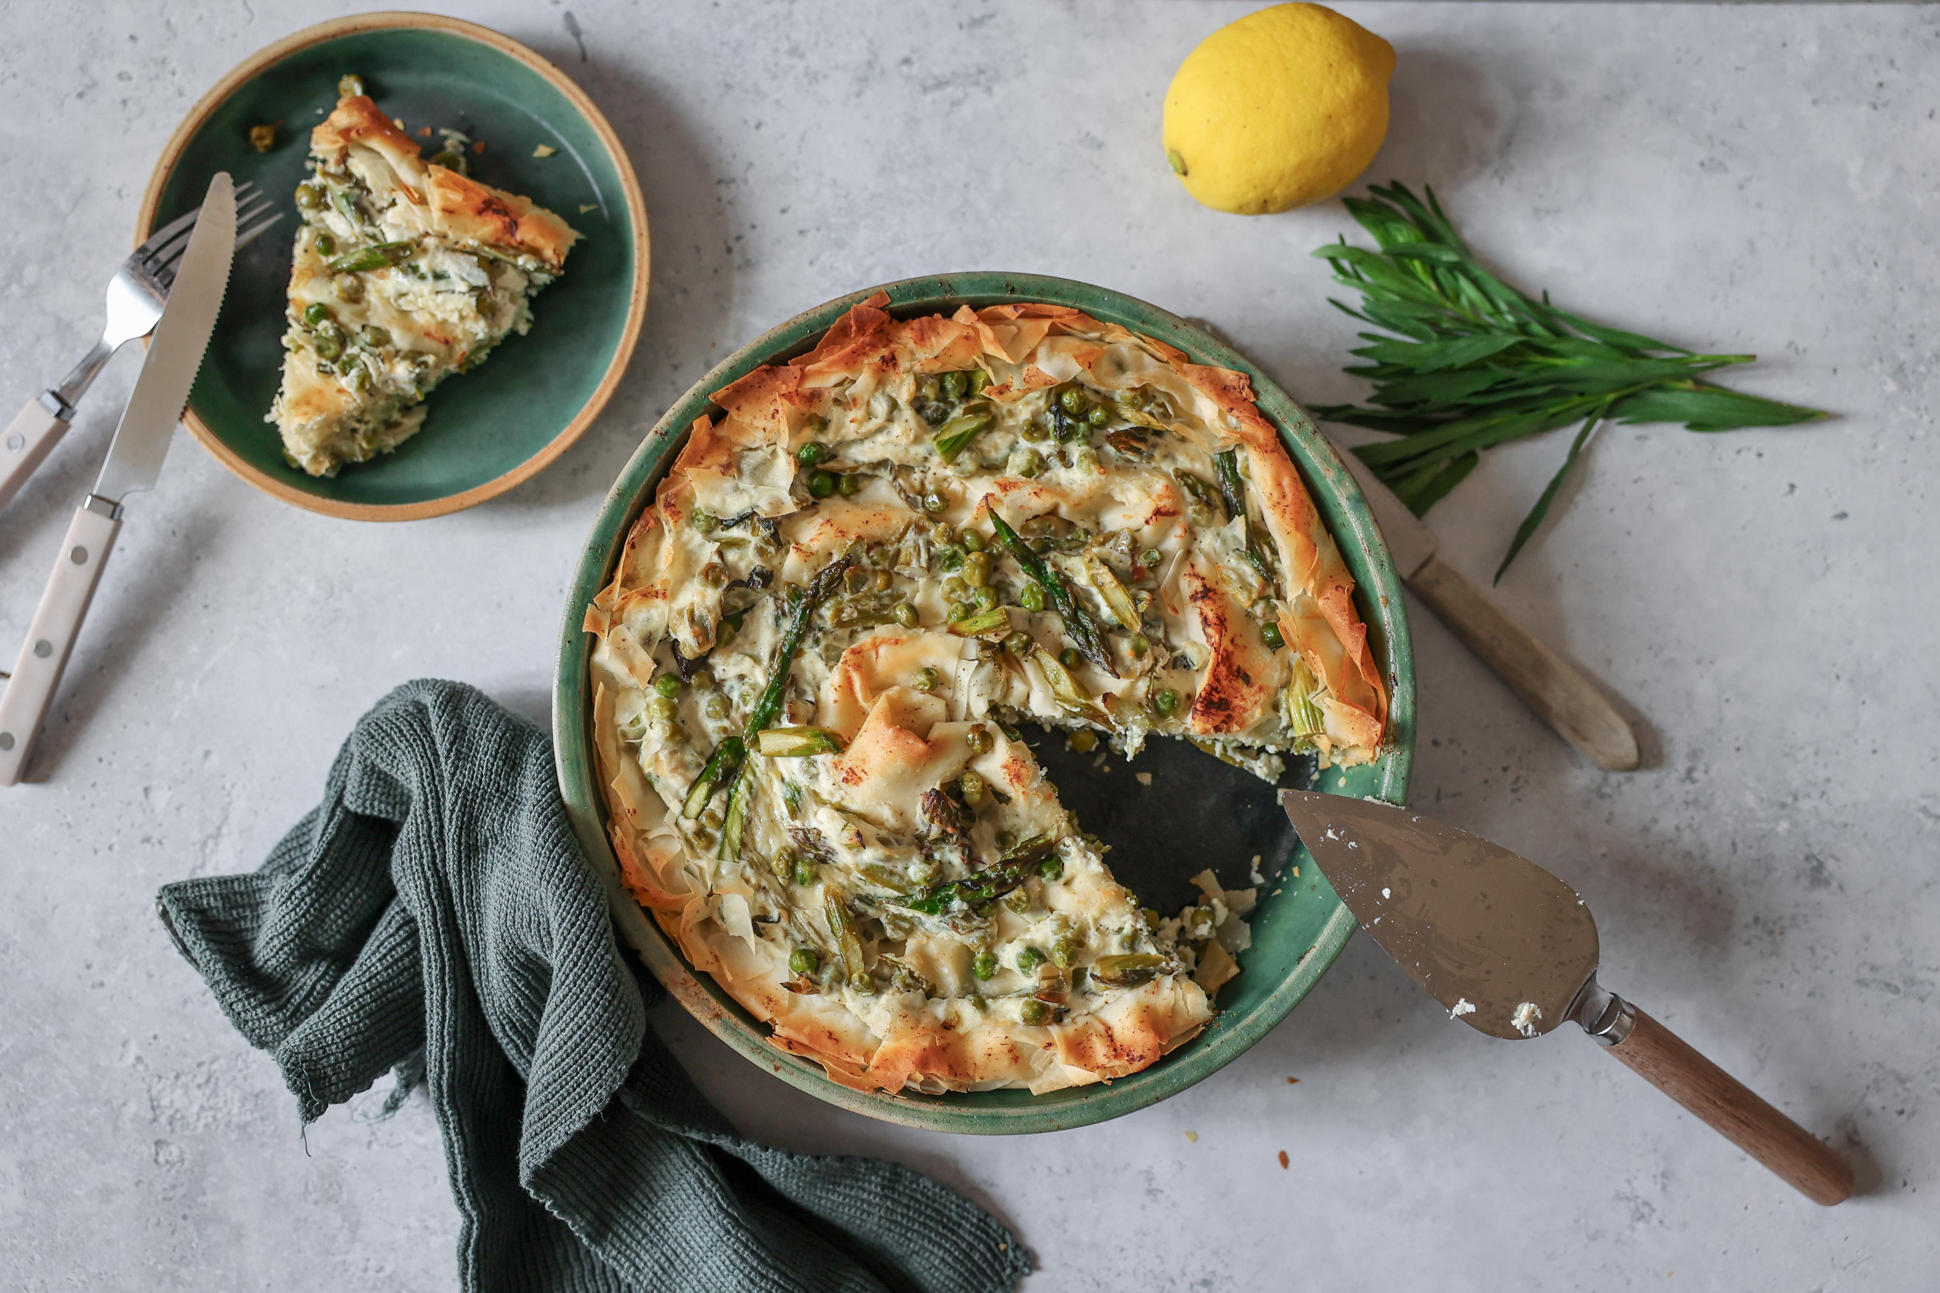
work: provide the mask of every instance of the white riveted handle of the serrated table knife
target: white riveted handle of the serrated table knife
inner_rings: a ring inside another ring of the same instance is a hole
[[[41,721],[54,704],[54,688],[68,667],[81,616],[101,583],[101,568],[120,533],[120,508],[105,498],[89,496],[68,525],[60,545],[54,574],[41,593],[41,607],[27,626],[27,642],[19,647],[19,663],[0,694],[0,785],[17,785],[27,768],[27,754],[41,735]]]

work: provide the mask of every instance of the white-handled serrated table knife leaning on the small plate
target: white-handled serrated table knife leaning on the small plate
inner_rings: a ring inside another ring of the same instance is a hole
[[[169,304],[155,324],[142,376],[136,378],[128,407],[122,409],[114,442],[101,465],[95,489],[74,512],[68,537],[54,558],[54,574],[47,580],[41,605],[27,626],[19,663],[0,694],[0,785],[16,785],[27,766],[27,754],[41,733],[47,710],[54,702],[60,675],[74,651],[87,603],[101,583],[120,533],[122,502],[128,494],[153,489],[161,461],[169,454],[169,438],[188,403],[188,388],[196,382],[202,353],[215,331],[215,316],[229,287],[229,262],[235,258],[237,205],[235,184],[227,173],[217,173],[202,200],[202,217],[182,252]]]

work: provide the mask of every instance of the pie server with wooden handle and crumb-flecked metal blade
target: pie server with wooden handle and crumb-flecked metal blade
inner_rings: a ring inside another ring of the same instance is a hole
[[[1597,983],[1597,923],[1568,884],[1408,808],[1308,791],[1280,806],[1360,927],[1451,1016],[1511,1041],[1575,1020],[1812,1202],[1853,1192],[1831,1150]]]

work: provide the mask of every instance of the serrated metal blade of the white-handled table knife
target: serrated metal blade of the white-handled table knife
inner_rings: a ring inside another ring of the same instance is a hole
[[[120,504],[128,494],[153,489],[169,440],[196,384],[202,353],[215,331],[215,316],[229,291],[229,262],[237,246],[237,200],[229,173],[217,171],[188,238],[169,304],[155,324],[155,337],[142,363],[142,376],[128,395],[109,457],[101,463],[95,496]]]

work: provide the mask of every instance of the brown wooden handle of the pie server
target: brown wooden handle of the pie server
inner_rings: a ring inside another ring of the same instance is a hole
[[[1630,1035],[1608,1051],[1624,1060],[1630,1072],[1709,1122],[1711,1130],[1775,1171],[1814,1204],[1831,1208],[1853,1192],[1853,1169],[1812,1132],[1698,1055],[1668,1027],[1628,1002],[1626,1008],[1635,1022]]]

